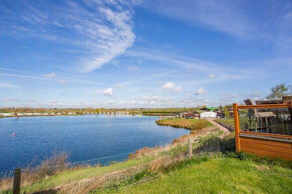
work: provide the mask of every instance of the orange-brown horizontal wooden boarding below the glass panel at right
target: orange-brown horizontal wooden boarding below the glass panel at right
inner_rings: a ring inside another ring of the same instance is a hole
[[[258,156],[281,157],[286,160],[292,160],[292,141],[260,139],[246,136],[240,136],[239,139],[242,151]]]

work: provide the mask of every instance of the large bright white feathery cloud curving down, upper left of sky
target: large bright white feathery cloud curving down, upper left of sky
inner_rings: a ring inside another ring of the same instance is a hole
[[[128,10],[113,11],[100,7],[98,12],[105,18],[103,24],[92,21],[79,24],[78,31],[93,42],[91,59],[85,62],[82,71],[90,72],[112,61],[133,46],[135,34],[132,29],[131,13]]]

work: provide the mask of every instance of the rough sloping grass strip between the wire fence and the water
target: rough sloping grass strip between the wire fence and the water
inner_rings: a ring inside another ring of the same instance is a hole
[[[220,134],[220,131],[203,131],[200,134],[203,137],[200,138],[201,140],[199,142],[194,143],[194,146]],[[72,189],[70,191],[71,193],[78,193],[79,190],[88,192],[91,189],[99,188],[101,185],[107,185],[108,182],[111,183],[111,181],[120,177],[131,177],[133,174],[144,169],[152,168],[153,166],[160,168],[161,160],[165,159],[165,157],[167,157],[167,162],[163,162],[163,165],[172,165],[174,154],[184,154],[187,151],[185,143],[188,137],[196,139],[196,135],[189,134],[176,139],[175,143],[172,144],[156,146],[154,148],[144,147],[131,154],[127,161],[114,163],[109,166],[65,168],[60,171],[47,173],[48,168],[46,166],[54,166],[55,163],[60,164],[59,159],[53,159],[53,163],[42,166],[38,173],[23,173],[21,190],[22,192],[31,193],[39,190],[55,190],[61,188],[61,191]],[[131,171],[132,168],[134,171]],[[88,182],[95,186],[91,187],[86,185]],[[10,188],[12,187],[12,183],[12,179],[0,181],[0,193],[11,193]]]

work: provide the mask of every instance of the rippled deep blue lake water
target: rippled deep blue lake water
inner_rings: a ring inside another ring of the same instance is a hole
[[[189,133],[157,125],[157,119],[131,115],[1,118],[0,173],[25,166],[36,156],[39,161],[54,150],[69,151],[70,161],[75,162],[168,143]]]

